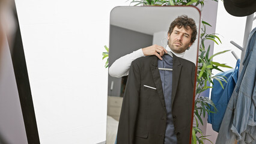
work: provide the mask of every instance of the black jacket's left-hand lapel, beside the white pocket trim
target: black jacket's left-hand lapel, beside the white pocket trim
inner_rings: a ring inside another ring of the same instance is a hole
[[[162,106],[165,107],[165,98],[163,97],[162,82],[161,82],[160,73],[159,73],[159,70],[157,67],[157,57],[156,56],[153,56],[153,58],[152,58],[150,69],[152,72],[154,84],[156,85],[156,90],[158,92],[160,101],[162,103]],[[165,109],[165,111],[166,111],[166,109]]]

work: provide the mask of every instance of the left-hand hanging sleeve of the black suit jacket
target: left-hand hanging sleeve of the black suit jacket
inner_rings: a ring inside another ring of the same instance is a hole
[[[123,105],[117,132],[117,144],[132,144],[138,113],[141,73],[135,61],[132,62],[124,92]]]

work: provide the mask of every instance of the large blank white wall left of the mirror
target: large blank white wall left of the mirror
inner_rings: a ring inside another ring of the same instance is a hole
[[[16,1],[41,143],[106,140],[109,14],[125,1]]]

